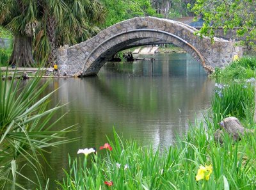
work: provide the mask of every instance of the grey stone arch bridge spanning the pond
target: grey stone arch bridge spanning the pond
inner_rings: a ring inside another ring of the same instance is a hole
[[[60,75],[97,75],[100,68],[116,52],[127,47],[151,44],[156,40],[172,43],[187,51],[198,60],[206,72],[214,67],[225,67],[234,55],[241,56],[243,48],[236,42],[221,38],[211,39],[195,35],[196,29],[168,19],[138,17],[125,20],[101,31],[80,44],[58,49]]]

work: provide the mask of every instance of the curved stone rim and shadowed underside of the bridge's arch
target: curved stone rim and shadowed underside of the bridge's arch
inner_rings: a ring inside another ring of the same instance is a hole
[[[186,52],[191,54],[191,56],[195,58],[196,61],[198,61],[207,71],[204,58],[200,52],[193,47],[193,45],[186,42],[186,40],[183,40],[179,36],[173,35],[172,33],[168,33],[166,31],[159,31],[155,29],[134,29],[112,36],[111,38],[108,38],[104,42],[97,45],[97,47],[90,52],[84,61],[85,64],[83,67],[83,75],[97,75],[100,68],[103,67],[108,59],[114,56],[117,52],[127,49],[127,47],[131,48],[141,45],[150,45],[150,42],[148,44],[140,44],[140,41],[147,39],[160,40],[184,49]]]

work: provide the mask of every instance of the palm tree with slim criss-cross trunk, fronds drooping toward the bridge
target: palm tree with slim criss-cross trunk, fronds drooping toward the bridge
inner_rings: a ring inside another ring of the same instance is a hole
[[[62,3],[62,4],[61,4]],[[43,4],[44,15],[35,43],[35,58],[56,63],[56,47],[74,45],[96,35],[97,25],[105,19],[105,10],[98,0],[57,1]]]

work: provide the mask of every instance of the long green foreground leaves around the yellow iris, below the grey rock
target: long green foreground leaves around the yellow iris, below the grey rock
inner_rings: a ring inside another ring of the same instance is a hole
[[[207,126],[191,126],[186,137],[163,152],[124,141],[114,132],[111,152],[99,150],[98,155],[69,160],[60,189],[255,189],[256,136],[249,134],[233,146],[225,134],[221,146],[214,142],[211,122],[205,122]],[[200,164],[212,165],[208,181],[195,180]],[[111,181],[111,187],[104,184]]]

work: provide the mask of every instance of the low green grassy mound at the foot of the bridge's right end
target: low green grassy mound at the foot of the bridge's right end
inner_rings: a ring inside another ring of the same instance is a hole
[[[237,61],[232,61],[230,65],[223,70],[216,70],[216,74],[212,77],[220,79],[220,81],[244,81],[256,77],[256,58],[243,57]]]

